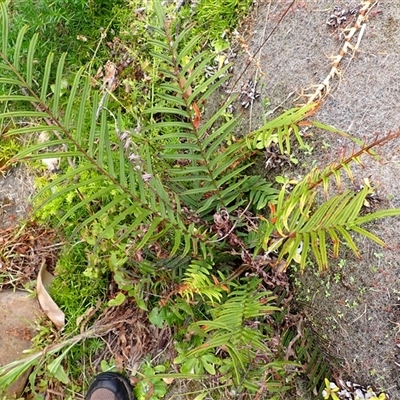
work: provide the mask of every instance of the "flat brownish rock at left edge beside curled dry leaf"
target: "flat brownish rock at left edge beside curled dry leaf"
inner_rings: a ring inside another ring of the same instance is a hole
[[[31,347],[33,322],[38,313],[38,302],[28,293],[13,290],[0,292],[0,366],[22,358],[23,351]],[[29,373],[27,371],[8,388],[9,396],[20,397]]]

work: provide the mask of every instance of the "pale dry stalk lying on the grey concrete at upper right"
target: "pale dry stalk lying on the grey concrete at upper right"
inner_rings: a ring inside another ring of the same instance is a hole
[[[365,26],[365,22],[367,20],[367,14],[369,10],[375,5],[372,4],[372,1],[364,1],[362,3],[362,7],[360,8],[359,15],[357,17],[356,22],[354,25],[350,28],[350,31],[348,35],[346,36],[346,40],[343,43],[342,49],[340,50],[339,54],[333,57],[333,65],[331,70],[329,71],[329,74],[327,77],[324,79],[322,83],[320,83],[317,86],[316,91],[312,95],[306,95],[306,97],[309,97],[307,104],[311,104],[314,101],[321,100],[323,97],[325,97],[329,93],[330,89],[330,81],[335,75],[339,75],[339,69],[338,66],[340,62],[342,61],[343,57],[347,54],[347,51],[349,49],[356,51],[358,48],[358,45],[360,44],[361,40],[361,35],[364,32],[362,29],[360,32],[360,38],[357,41],[356,46],[353,46],[350,42],[355,35],[355,33],[362,27]]]

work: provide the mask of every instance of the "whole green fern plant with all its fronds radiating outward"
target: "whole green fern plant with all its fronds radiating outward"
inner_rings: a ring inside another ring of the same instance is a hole
[[[190,24],[167,18],[161,3],[153,2],[156,20],[148,46],[154,76],[162,82],[151,87],[147,98],[151,106],[140,118],[132,116],[114,101],[118,100],[118,91],[107,85],[100,91],[95,89],[93,77],[83,67],[69,77],[72,84],[65,92],[65,54],[55,60],[50,53],[37,78],[38,36],[28,40],[27,29],[23,28],[11,50],[8,3],[0,3],[2,136],[35,138],[38,132],[45,132],[50,138],[34,141],[6,165],[61,159],[62,172],[38,191],[37,202],[43,207],[55,199],[68,199],[67,208],[56,214],[58,225],[67,227],[72,237],[81,234],[90,247],[106,242],[107,246],[100,246],[101,255],[109,261],[108,270],[118,276],[120,290],[125,288],[129,296],[135,296],[130,293],[134,292],[133,286],[127,283],[129,275],[120,265],[122,260],[129,267],[126,254],[136,255],[143,270],[149,260],[161,259],[170,265],[171,259],[179,258],[179,268],[174,269],[178,273],[175,277],[171,274],[171,281],[177,283],[173,294],[182,296],[187,307],[196,298],[202,312],[211,315],[209,319],[191,321],[190,329],[202,343],[186,348],[184,354],[195,359],[192,367],[196,365],[197,372],[218,370],[236,386],[243,384],[254,390],[250,379],[242,381],[241,374],[255,374],[257,368],[264,368],[264,377],[270,382],[268,390],[284,388],[284,378],[269,380],[271,370],[272,375],[284,376],[284,369],[279,360],[273,360],[264,341],[268,332],[261,334],[254,328],[275,310],[273,296],[262,289],[258,280],[242,282],[228,294],[227,286],[219,282],[210,266],[214,262],[218,269],[229,269],[223,262],[217,264],[215,260],[223,259],[217,254],[239,254],[236,264],[245,261],[246,268],[262,275],[265,264],[259,263],[260,256],[276,250],[277,262],[269,264],[281,270],[293,260],[304,268],[310,251],[323,269],[328,262],[329,240],[334,255],[339,251],[340,240],[358,255],[349,231],[383,245],[360,225],[399,214],[400,210],[360,217],[368,188],[359,193],[345,191],[321,205],[316,201],[318,188],[326,191],[331,176],[339,182],[341,170],[351,172],[350,163],[381,142],[363,145],[337,165],[322,172],[312,170],[293,189],[283,185],[278,191],[265,178],[250,176],[247,169],[254,162],[253,156],[272,142],[278,143],[281,152],[290,152],[293,139],[302,145],[301,124],[324,127],[305,121],[316,104],[289,110],[247,137],[233,140],[239,117],[226,119],[225,114],[227,106],[235,101],[234,96],[209,118],[204,112],[204,104],[228,79],[225,73],[229,65],[206,77],[204,68],[212,56],[204,50],[202,36],[192,36]],[[22,56],[25,41],[28,51]],[[253,212],[249,226],[241,220],[243,208]],[[223,232],[215,229],[215,217],[222,210],[227,215]],[[111,248],[118,249],[120,257],[115,265],[112,262],[117,257],[110,256]],[[140,307],[146,309],[147,304],[139,300],[143,303]],[[194,315],[190,314],[190,318]],[[251,323],[255,325],[249,326]],[[219,351],[223,351],[223,357],[216,357]],[[272,361],[261,367],[257,363],[260,354]]]

